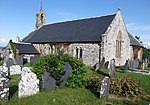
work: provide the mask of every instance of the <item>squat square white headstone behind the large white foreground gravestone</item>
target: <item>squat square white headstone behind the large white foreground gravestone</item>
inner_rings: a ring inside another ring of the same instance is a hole
[[[12,65],[9,69],[10,75],[21,74],[21,66],[19,65]]]

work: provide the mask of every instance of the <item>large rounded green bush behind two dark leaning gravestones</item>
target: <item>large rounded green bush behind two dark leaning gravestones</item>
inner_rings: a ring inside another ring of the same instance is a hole
[[[45,69],[48,69],[50,75],[56,80],[59,86],[60,78],[64,74],[62,72],[65,62],[72,66],[73,74],[68,78],[68,87],[85,87],[86,80],[86,66],[77,58],[65,55],[46,55],[33,64],[33,72],[37,78],[42,81],[42,74]]]

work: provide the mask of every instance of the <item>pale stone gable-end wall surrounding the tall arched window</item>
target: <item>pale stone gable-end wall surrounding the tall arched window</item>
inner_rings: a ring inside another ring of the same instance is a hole
[[[121,57],[116,57],[116,39],[118,33],[121,32]],[[125,61],[130,58],[130,39],[128,32],[122,18],[121,12],[118,11],[116,17],[108,27],[105,34],[103,34],[102,42],[102,57],[105,61],[115,59],[116,66],[121,66],[125,64]]]

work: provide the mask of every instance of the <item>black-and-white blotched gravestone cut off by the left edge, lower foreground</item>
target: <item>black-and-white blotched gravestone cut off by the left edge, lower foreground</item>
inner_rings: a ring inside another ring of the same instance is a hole
[[[8,100],[9,97],[9,79],[6,74],[0,71],[0,100]]]

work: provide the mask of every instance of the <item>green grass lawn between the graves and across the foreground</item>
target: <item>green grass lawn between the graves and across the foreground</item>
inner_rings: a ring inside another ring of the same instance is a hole
[[[103,78],[108,75],[108,70],[104,69],[102,72],[96,73],[94,71],[88,71],[88,76],[97,76]],[[117,70],[115,78],[123,77],[124,73],[121,70]],[[150,76],[127,73],[128,78],[134,80],[140,80],[140,86],[144,88],[145,94],[150,95]],[[20,76],[11,76],[10,80],[10,100],[0,102],[0,105],[106,105],[106,103],[112,103],[113,105],[132,105],[127,100],[119,100],[117,98],[100,99],[87,89],[72,89],[72,88],[58,88],[55,90],[40,92],[36,95],[18,98],[18,81]],[[150,99],[140,98],[136,105],[148,105]]]

